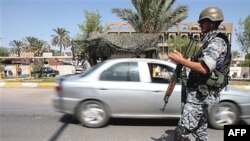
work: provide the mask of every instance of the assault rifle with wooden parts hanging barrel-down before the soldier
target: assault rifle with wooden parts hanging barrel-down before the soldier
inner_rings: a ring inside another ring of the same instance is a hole
[[[190,51],[191,51],[191,48],[192,48],[192,46],[193,46],[193,43],[194,43],[195,41],[197,42],[198,40],[191,36],[191,37],[190,37],[190,41],[189,41],[189,43],[188,43],[188,47],[186,48],[185,53],[184,53],[184,55],[183,55],[183,57],[184,57],[185,59],[188,58],[188,55],[189,55],[189,53],[190,53]],[[182,68],[183,68],[183,65],[177,64],[177,66],[176,66],[176,68],[175,68],[175,71],[174,71],[174,74],[171,76],[170,83],[169,83],[169,85],[168,85],[167,91],[166,91],[165,96],[164,96],[164,99],[163,99],[165,103],[164,103],[163,108],[160,109],[162,112],[165,110],[165,107],[166,107],[166,105],[167,105],[167,103],[168,103],[168,99],[169,99],[169,97],[171,96],[171,94],[172,94],[172,92],[173,92],[173,90],[174,90],[174,87],[175,87],[175,85],[176,85],[178,79],[181,77]],[[185,74],[184,74],[184,75],[185,75]],[[183,81],[183,80],[182,80],[182,81]],[[182,86],[182,87],[183,87],[183,86]],[[182,102],[183,102],[183,99],[182,99]]]

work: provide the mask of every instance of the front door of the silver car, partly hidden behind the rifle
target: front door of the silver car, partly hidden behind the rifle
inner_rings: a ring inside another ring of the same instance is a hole
[[[160,110],[163,108],[165,92],[175,68],[156,62],[147,65],[151,77],[151,82],[146,86],[150,91],[147,93],[148,104],[150,105],[147,109],[148,114],[152,116],[165,115],[167,117],[179,116],[181,113],[181,85],[179,83],[176,84],[164,112]]]

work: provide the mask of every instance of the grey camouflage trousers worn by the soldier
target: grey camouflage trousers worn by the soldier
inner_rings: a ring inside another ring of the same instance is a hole
[[[196,141],[208,140],[208,105],[211,99],[213,98],[200,96],[195,91],[188,93],[182,116],[175,129],[175,141],[189,140],[189,134],[192,134]]]

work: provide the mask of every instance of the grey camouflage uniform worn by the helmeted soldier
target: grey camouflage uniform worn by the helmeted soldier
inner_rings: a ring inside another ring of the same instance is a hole
[[[197,61],[206,65],[210,72],[218,69],[223,64],[227,54],[227,43],[224,39],[216,37],[216,31],[208,32],[202,39],[202,43],[203,46],[201,47]],[[193,76],[193,78],[190,78],[192,74],[197,74],[197,72],[191,70],[189,73],[186,104],[175,130],[176,141],[187,140],[187,135],[190,133],[197,141],[207,141],[208,106],[216,104],[219,101],[220,89],[205,91],[206,94],[204,94],[206,87],[200,85],[201,83],[196,83],[203,76]]]

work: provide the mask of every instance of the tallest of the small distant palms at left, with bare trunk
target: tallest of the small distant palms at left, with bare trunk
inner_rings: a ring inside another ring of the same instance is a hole
[[[57,28],[53,29],[53,31],[56,32],[56,35],[51,35],[52,37],[52,45],[59,46],[60,47],[60,53],[62,54],[62,47],[65,50],[65,47],[71,46],[71,39],[69,34],[69,31],[65,30],[64,28]]]

